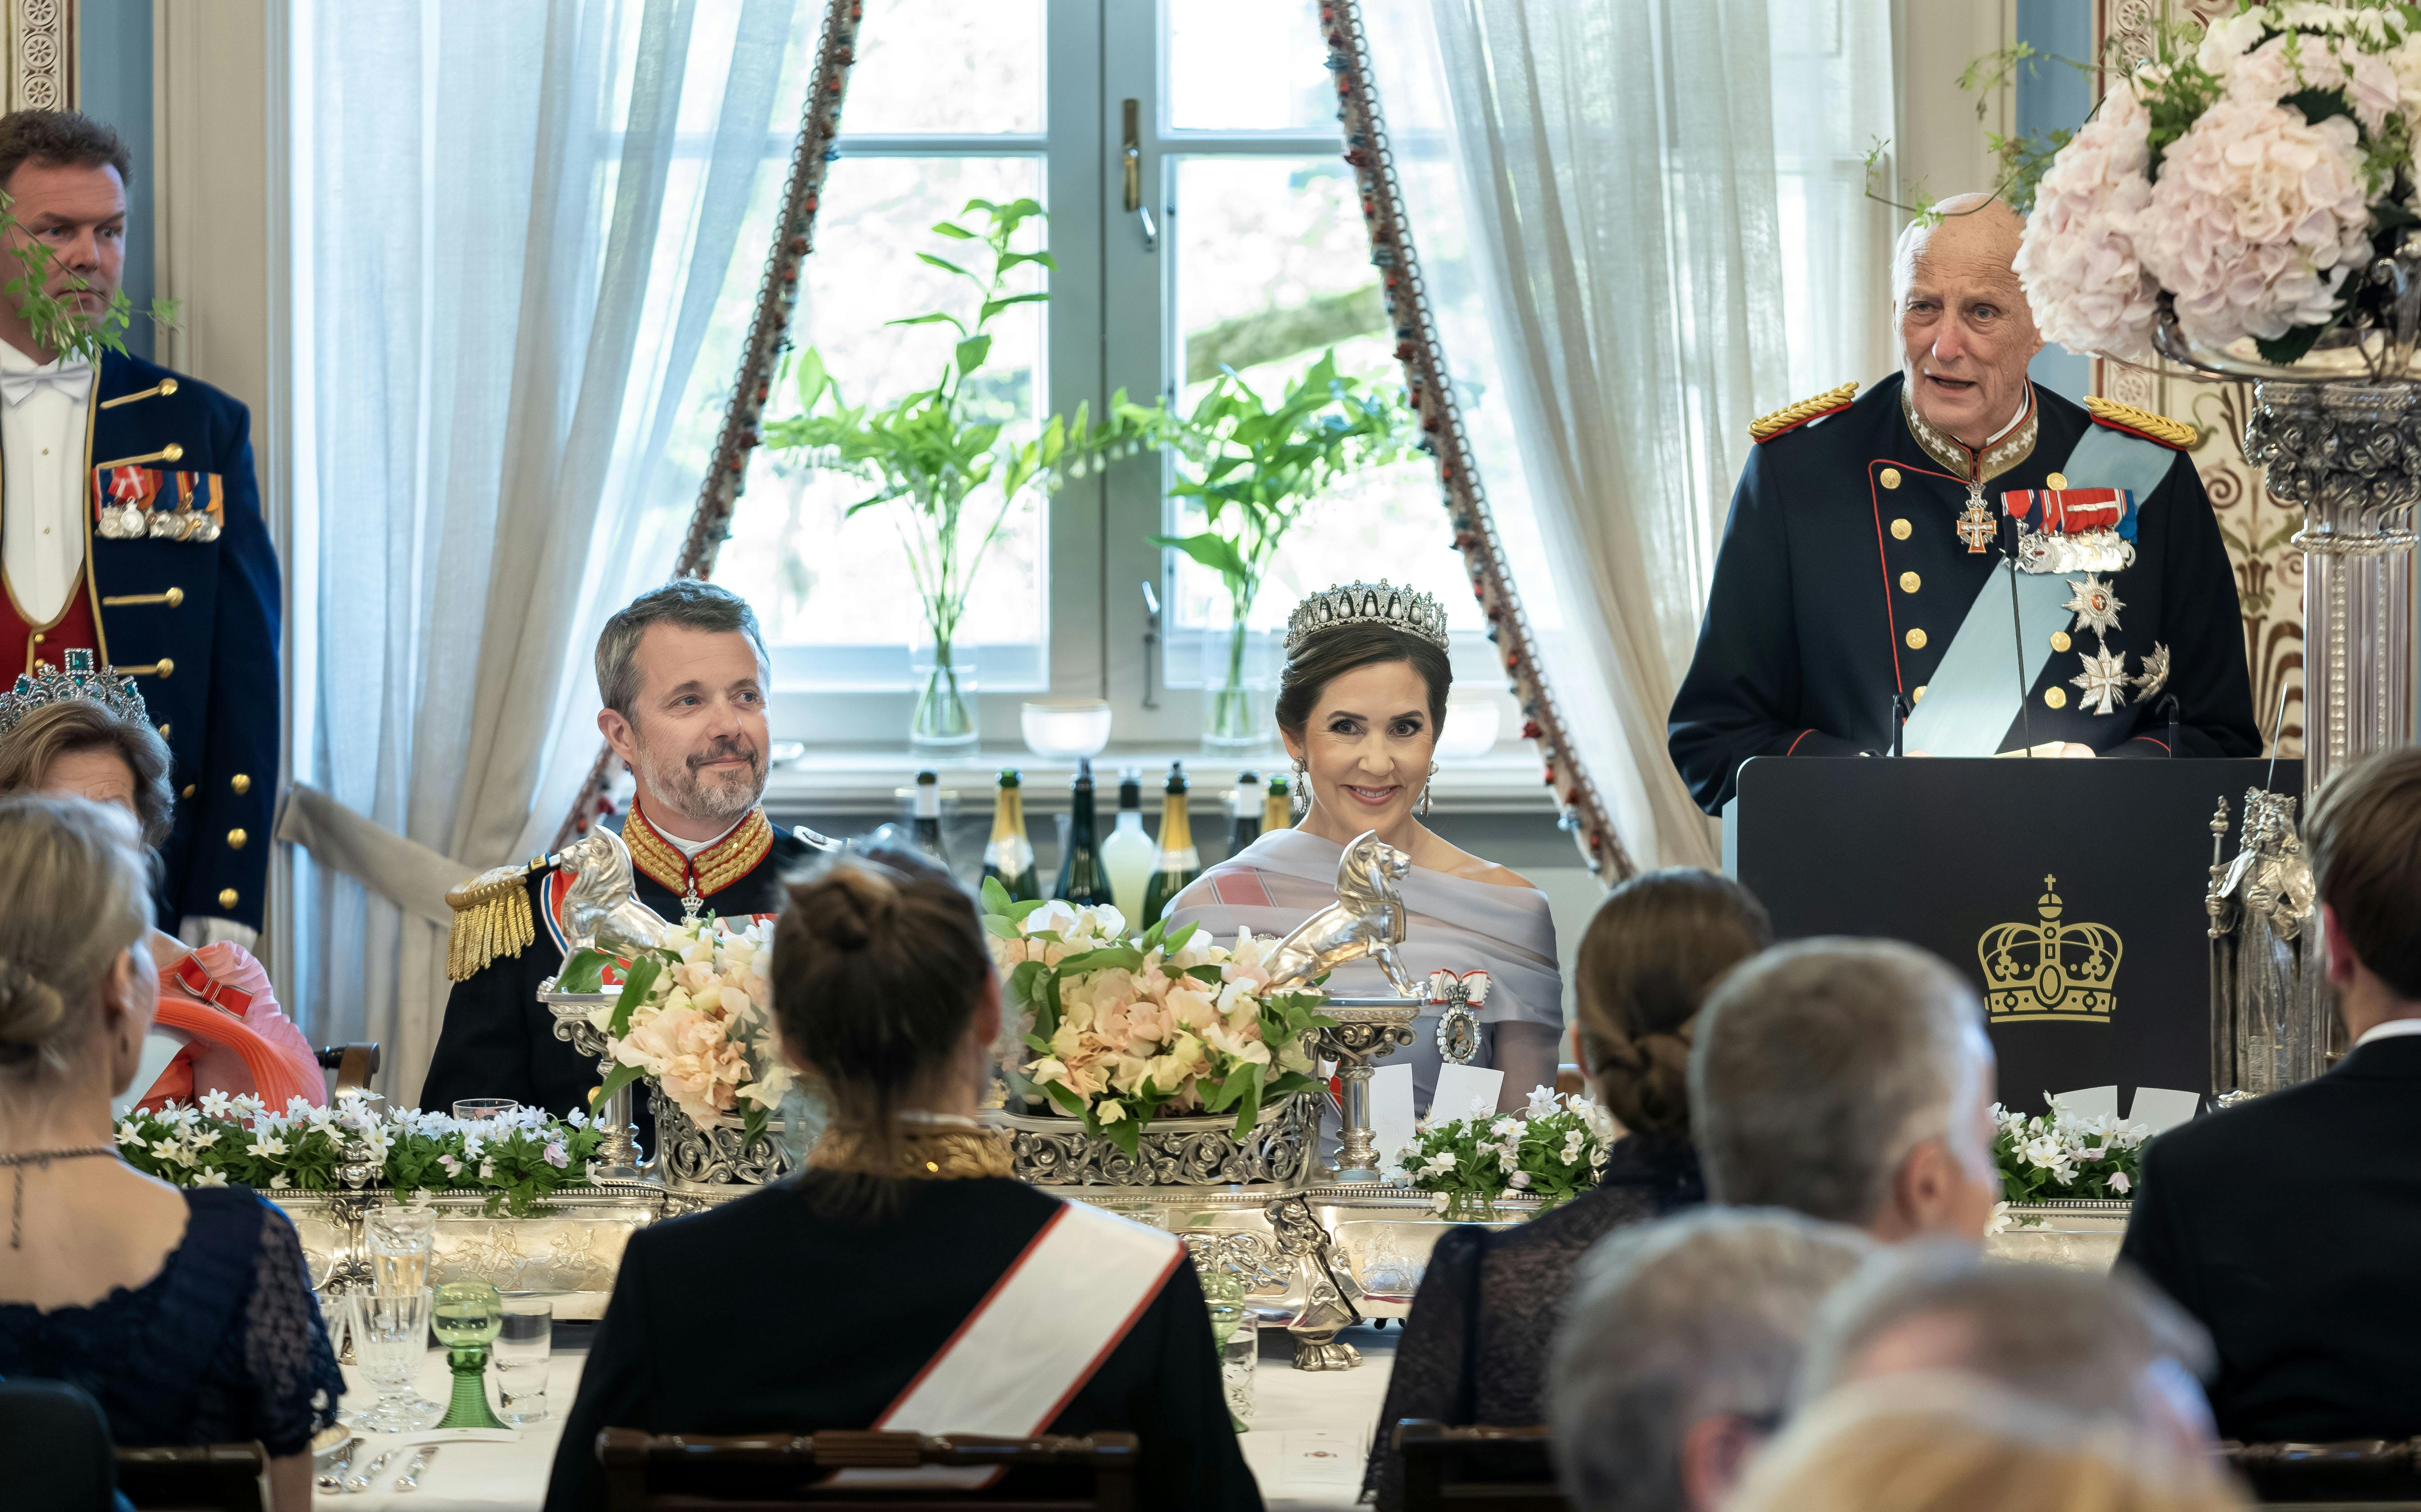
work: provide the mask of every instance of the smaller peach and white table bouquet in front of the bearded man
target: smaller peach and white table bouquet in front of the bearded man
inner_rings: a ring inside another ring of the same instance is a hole
[[[772,922],[705,914],[627,963],[581,951],[559,989],[598,992],[610,970],[622,992],[588,1014],[615,1062],[596,1101],[646,1079],[697,1127],[736,1123],[755,1144],[792,1086],[772,1023]]]

